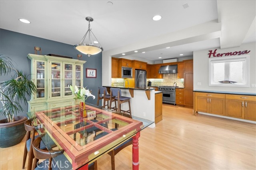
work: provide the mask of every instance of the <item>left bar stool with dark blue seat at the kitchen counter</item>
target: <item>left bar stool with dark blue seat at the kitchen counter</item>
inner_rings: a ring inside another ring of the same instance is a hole
[[[108,109],[111,109],[109,108],[110,104],[109,102],[111,103],[113,100],[114,100],[114,96],[112,96],[112,98],[110,98],[110,94],[108,94],[107,92],[107,88],[106,87],[98,87],[98,100],[97,100],[97,106],[99,106],[99,101],[103,99],[103,107],[106,107]],[[112,100],[111,100],[112,99]],[[107,105],[106,105],[106,102],[107,102]],[[116,101],[115,101],[115,107],[113,107],[113,109],[116,109]]]

